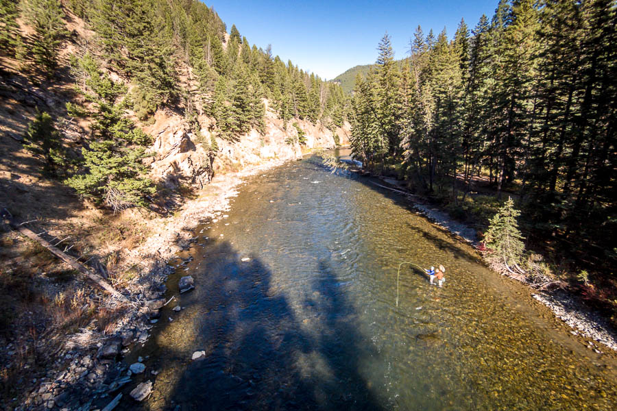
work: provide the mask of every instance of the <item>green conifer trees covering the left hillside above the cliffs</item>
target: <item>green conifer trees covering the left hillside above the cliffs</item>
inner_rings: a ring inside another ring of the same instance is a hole
[[[71,16],[85,31],[69,32],[77,23]],[[33,84],[67,77],[74,84],[66,110],[37,116],[26,147],[43,155],[49,176],[113,208],[147,206],[156,194],[141,161],[152,137],[141,128],[157,110],[182,114],[213,157],[216,138],[265,132],[266,102],[285,127],[297,119],[334,130],[346,116],[339,86],[282,62],[270,46],[250,45],[235,26],[227,33],[201,1],[1,0],[0,18],[0,50],[19,62],[20,73]],[[20,22],[31,28],[27,34]],[[64,52],[67,44],[75,45],[72,53]],[[199,116],[214,119],[208,136]],[[91,125],[81,153],[66,147],[62,130],[41,131],[61,119]]]

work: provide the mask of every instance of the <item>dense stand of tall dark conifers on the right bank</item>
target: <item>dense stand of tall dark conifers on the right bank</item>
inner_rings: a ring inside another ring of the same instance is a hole
[[[617,262],[616,27],[612,0],[501,0],[452,40],[418,27],[402,69],[384,36],[375,69],[355,80],[356,158],[459,218],[486,221],[511,196],[528,244],[607,279]]]

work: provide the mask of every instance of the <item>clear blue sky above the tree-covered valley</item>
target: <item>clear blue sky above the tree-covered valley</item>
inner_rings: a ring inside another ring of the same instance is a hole
[[[415,27],[435,35],[446,27],[452,37],[461,21],[472,29],[482,14],[492,16],[498,0],[432,1],[266,1],[205,0],[213,6],[227,31],[232,24],[251,45],[322,79],[332,79],[357,64],[376,60],[376,47],[385,32],[392,37],[395,58],[403,58]]]

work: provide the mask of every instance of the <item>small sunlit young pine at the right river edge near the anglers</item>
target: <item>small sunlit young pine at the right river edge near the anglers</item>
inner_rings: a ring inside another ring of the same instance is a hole
[[[525,251],[524,238],[516,221],[519,215],[520,211],[514,208],[514,201],[508,197],[503,207],[489,221],[489,229],[484,235],[486,246],[507,266],[520,264]]]

